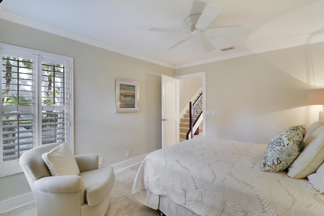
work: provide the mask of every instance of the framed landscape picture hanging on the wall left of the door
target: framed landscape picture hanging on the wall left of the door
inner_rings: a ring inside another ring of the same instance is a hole
[[[116,79],[116,112],[137,112],[139,82]]]

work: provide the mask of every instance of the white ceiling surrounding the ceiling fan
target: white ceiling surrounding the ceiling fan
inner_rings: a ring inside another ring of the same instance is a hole
[[[208,36],[216,50],[206,53],[191,37],[147,31],[183,29],[184,19],[206,4],[223,10],[210,27],[244,25],[247,35]],[[45,30],[149,62],[186,66],[324,41],[324,0],[3,0],[0,18]],[[1,28],[0,28],[1,30]],[[220,49],[235,46],[235,50]]]

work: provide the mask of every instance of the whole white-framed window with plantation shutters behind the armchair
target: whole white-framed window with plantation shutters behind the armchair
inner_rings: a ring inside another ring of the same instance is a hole
[[[21,171],[18,159],[31,148],[73,148],[73,59],[4,44],[1,57],[0,176],[6,176]]]

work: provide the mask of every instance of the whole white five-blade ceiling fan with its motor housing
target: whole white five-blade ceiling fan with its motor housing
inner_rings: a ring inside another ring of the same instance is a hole
[[[212,4],[207,4],[203,13],[201,14],[192,14],[188,16],[183,25],[186,29],[171,29],[171,28],[153,28],[150,27],[148,31],[168,31],[168,32],[179,32],[179,33],[190,33],[189,36],[186,36],[173,45],[164,49],[164,51],[171,50],[178,45],[182,44],[186,40],[190,39],[191,36],[197,36],[199,45],[205,50],[205,52],[211,52],[215,50],[215,47],[207,38],[207,35],[228,35],[228,34],[248,34],[251,32],[249,27],[241,26],[228,26],[228,27],[219,27],[219,28],[208,28],[211,22],[215,17],[222,11],[222,7]]]

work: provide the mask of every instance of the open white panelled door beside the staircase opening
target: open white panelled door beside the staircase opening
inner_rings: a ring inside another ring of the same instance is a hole
[[[162,148],[179,142],[179,79],[162,75]]]

